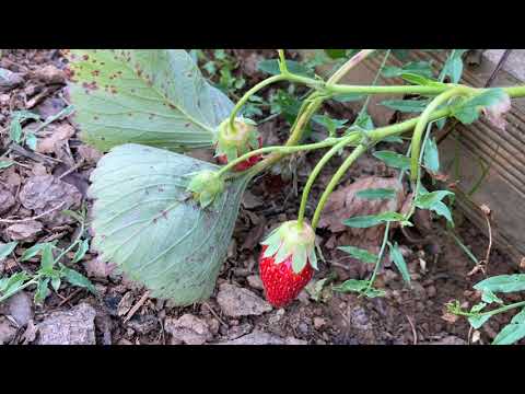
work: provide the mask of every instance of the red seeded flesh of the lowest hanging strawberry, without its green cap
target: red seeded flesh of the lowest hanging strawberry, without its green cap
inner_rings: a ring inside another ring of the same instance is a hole
[[[275,256],[262,257],[268,246],[262,246],[259,259],[260,279],[265,286],[266,299],[275,308],[282,308],[292,302],[312,280],[314,269],[310,262],[299,274],[292,269],[292,256],[277,264]]]

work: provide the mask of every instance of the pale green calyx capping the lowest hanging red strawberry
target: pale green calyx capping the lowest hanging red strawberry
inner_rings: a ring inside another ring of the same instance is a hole
[[[291,257],[292,270],[295,274],[301,273],[308,263],[314,269],[318,269],[315,231],[306,223],[287,221],[273,230],[261,245],[266,246],[262,258],[273,256],[275,264],[281,264]]]

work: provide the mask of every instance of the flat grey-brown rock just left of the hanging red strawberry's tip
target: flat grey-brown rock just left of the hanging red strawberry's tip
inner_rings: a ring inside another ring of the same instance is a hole
[[[230,283],[222,283],[217,302],[226,316],[241,317],[270,312],[271,305],[254,292]]]

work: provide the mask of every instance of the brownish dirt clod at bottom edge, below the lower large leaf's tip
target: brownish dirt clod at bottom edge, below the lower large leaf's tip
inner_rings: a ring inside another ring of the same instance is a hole
[[[172,344],[202,345],[213,337],[208,324],[191,314],[166,318],[164,329],[172,335]]]

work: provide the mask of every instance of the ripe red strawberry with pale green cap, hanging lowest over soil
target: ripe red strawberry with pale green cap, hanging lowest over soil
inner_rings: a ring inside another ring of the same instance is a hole
[[[260,279],[268,302],[282,308],[292,302],[317,269],[315,232],[306,223],[288,221],[262,242]]]

